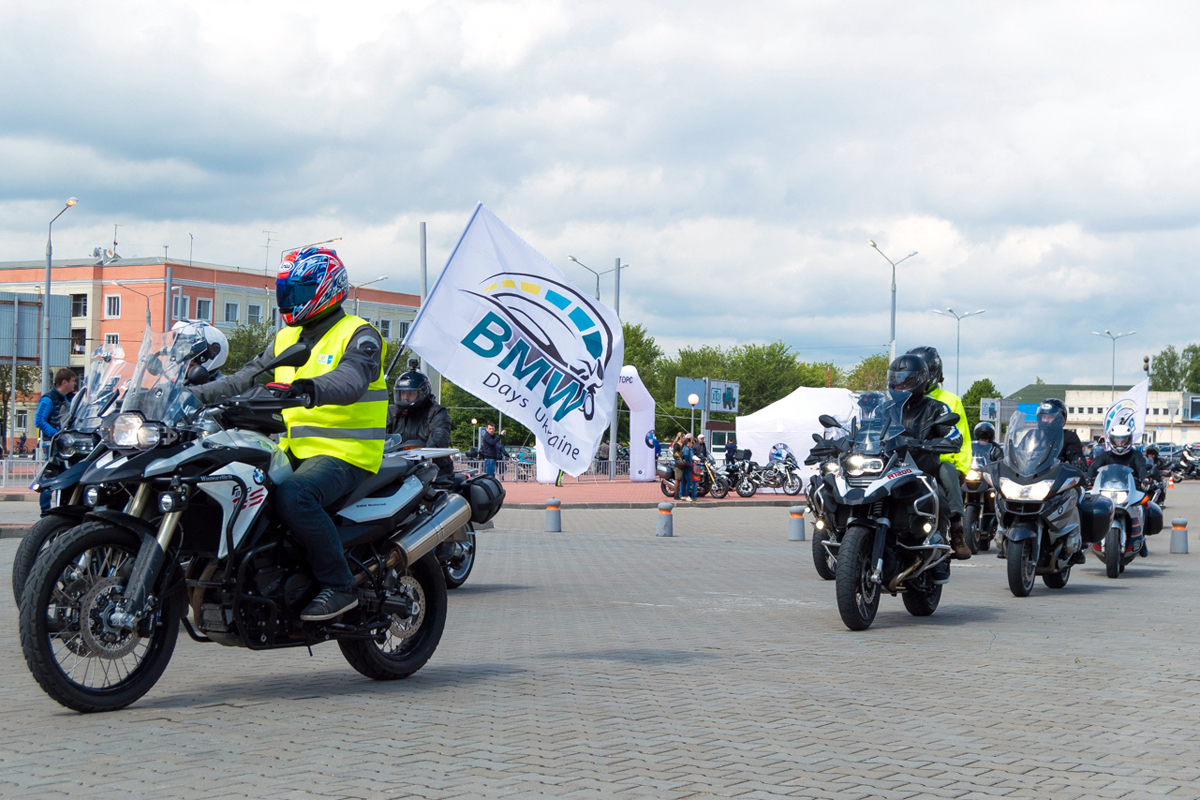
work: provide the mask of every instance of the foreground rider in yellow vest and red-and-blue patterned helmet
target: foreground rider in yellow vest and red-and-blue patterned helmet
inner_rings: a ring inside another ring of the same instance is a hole
[[[280,446],[296,469],[275,492],[280,519],[304,547],[319,584],[300,613],[306,621],[328,620],[355,608],[354,578],[342,542],[324,506],[344,497],[383,463],[388,425],[388,385],[383,338],[366,320],[342,309],[349,277],[332,249],[304,247],[283,257],[276,281],[286,327],[275,342],[233,375],[193,392],[214,403],[245,391],[262,367],[302,342],[308,361],[277,367],[269,384],[282,397],[306,397],[302,408],[283,411],[287,434]]]

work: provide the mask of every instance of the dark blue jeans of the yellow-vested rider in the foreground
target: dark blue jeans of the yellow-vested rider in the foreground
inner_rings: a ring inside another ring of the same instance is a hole
[[[275,492],[275,512],[304,547],[308,566],[322,588],[338,591],[354,588],[342,540],[325,506],[349,494],[370,476],[367,470],[341,458],[313,456],[300,462],[296,471]]]

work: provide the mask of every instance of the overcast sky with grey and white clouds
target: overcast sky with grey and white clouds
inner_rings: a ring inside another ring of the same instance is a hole
[[[0,259],[274,266],[341,235],[415,291],[478,200],[668,349],[941,348],[962,389],[1200,338],[1195,4],[0,2]],[[263,245],[272,230],[271,249]],[[611,276],[601,296],[612,300]],[[720,375],[713,375],[719,378]]]

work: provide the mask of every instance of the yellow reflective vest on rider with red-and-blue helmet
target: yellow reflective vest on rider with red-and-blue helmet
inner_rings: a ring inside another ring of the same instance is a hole
[[[308,362],[300,368],[276,367],[275,380],[290,384],[300,378],[317,378],[337,368],[354,331],[367,321],[347,314],[337,321],[308,354]],[[275,355],[300,341],[300,326],[287,326],[275,335]],[[296,458],[332,456],[378,473],[383,464],[383,443],[388,433],[388,384],[383,377],[380,354],[379,375],[367,386],[366,393],[350,405],[317,405],[289,408],[283,411],[288,426],[280,446]]]

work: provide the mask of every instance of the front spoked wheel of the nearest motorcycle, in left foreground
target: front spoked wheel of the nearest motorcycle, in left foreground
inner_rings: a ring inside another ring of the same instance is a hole
[[[157,682],[175,650],[182,593],[133,630],[110,624],[140,541],[106,523],[61,534],[34,564],[20,606],[20,645],[34,679],[76,711],[114,711]]]

